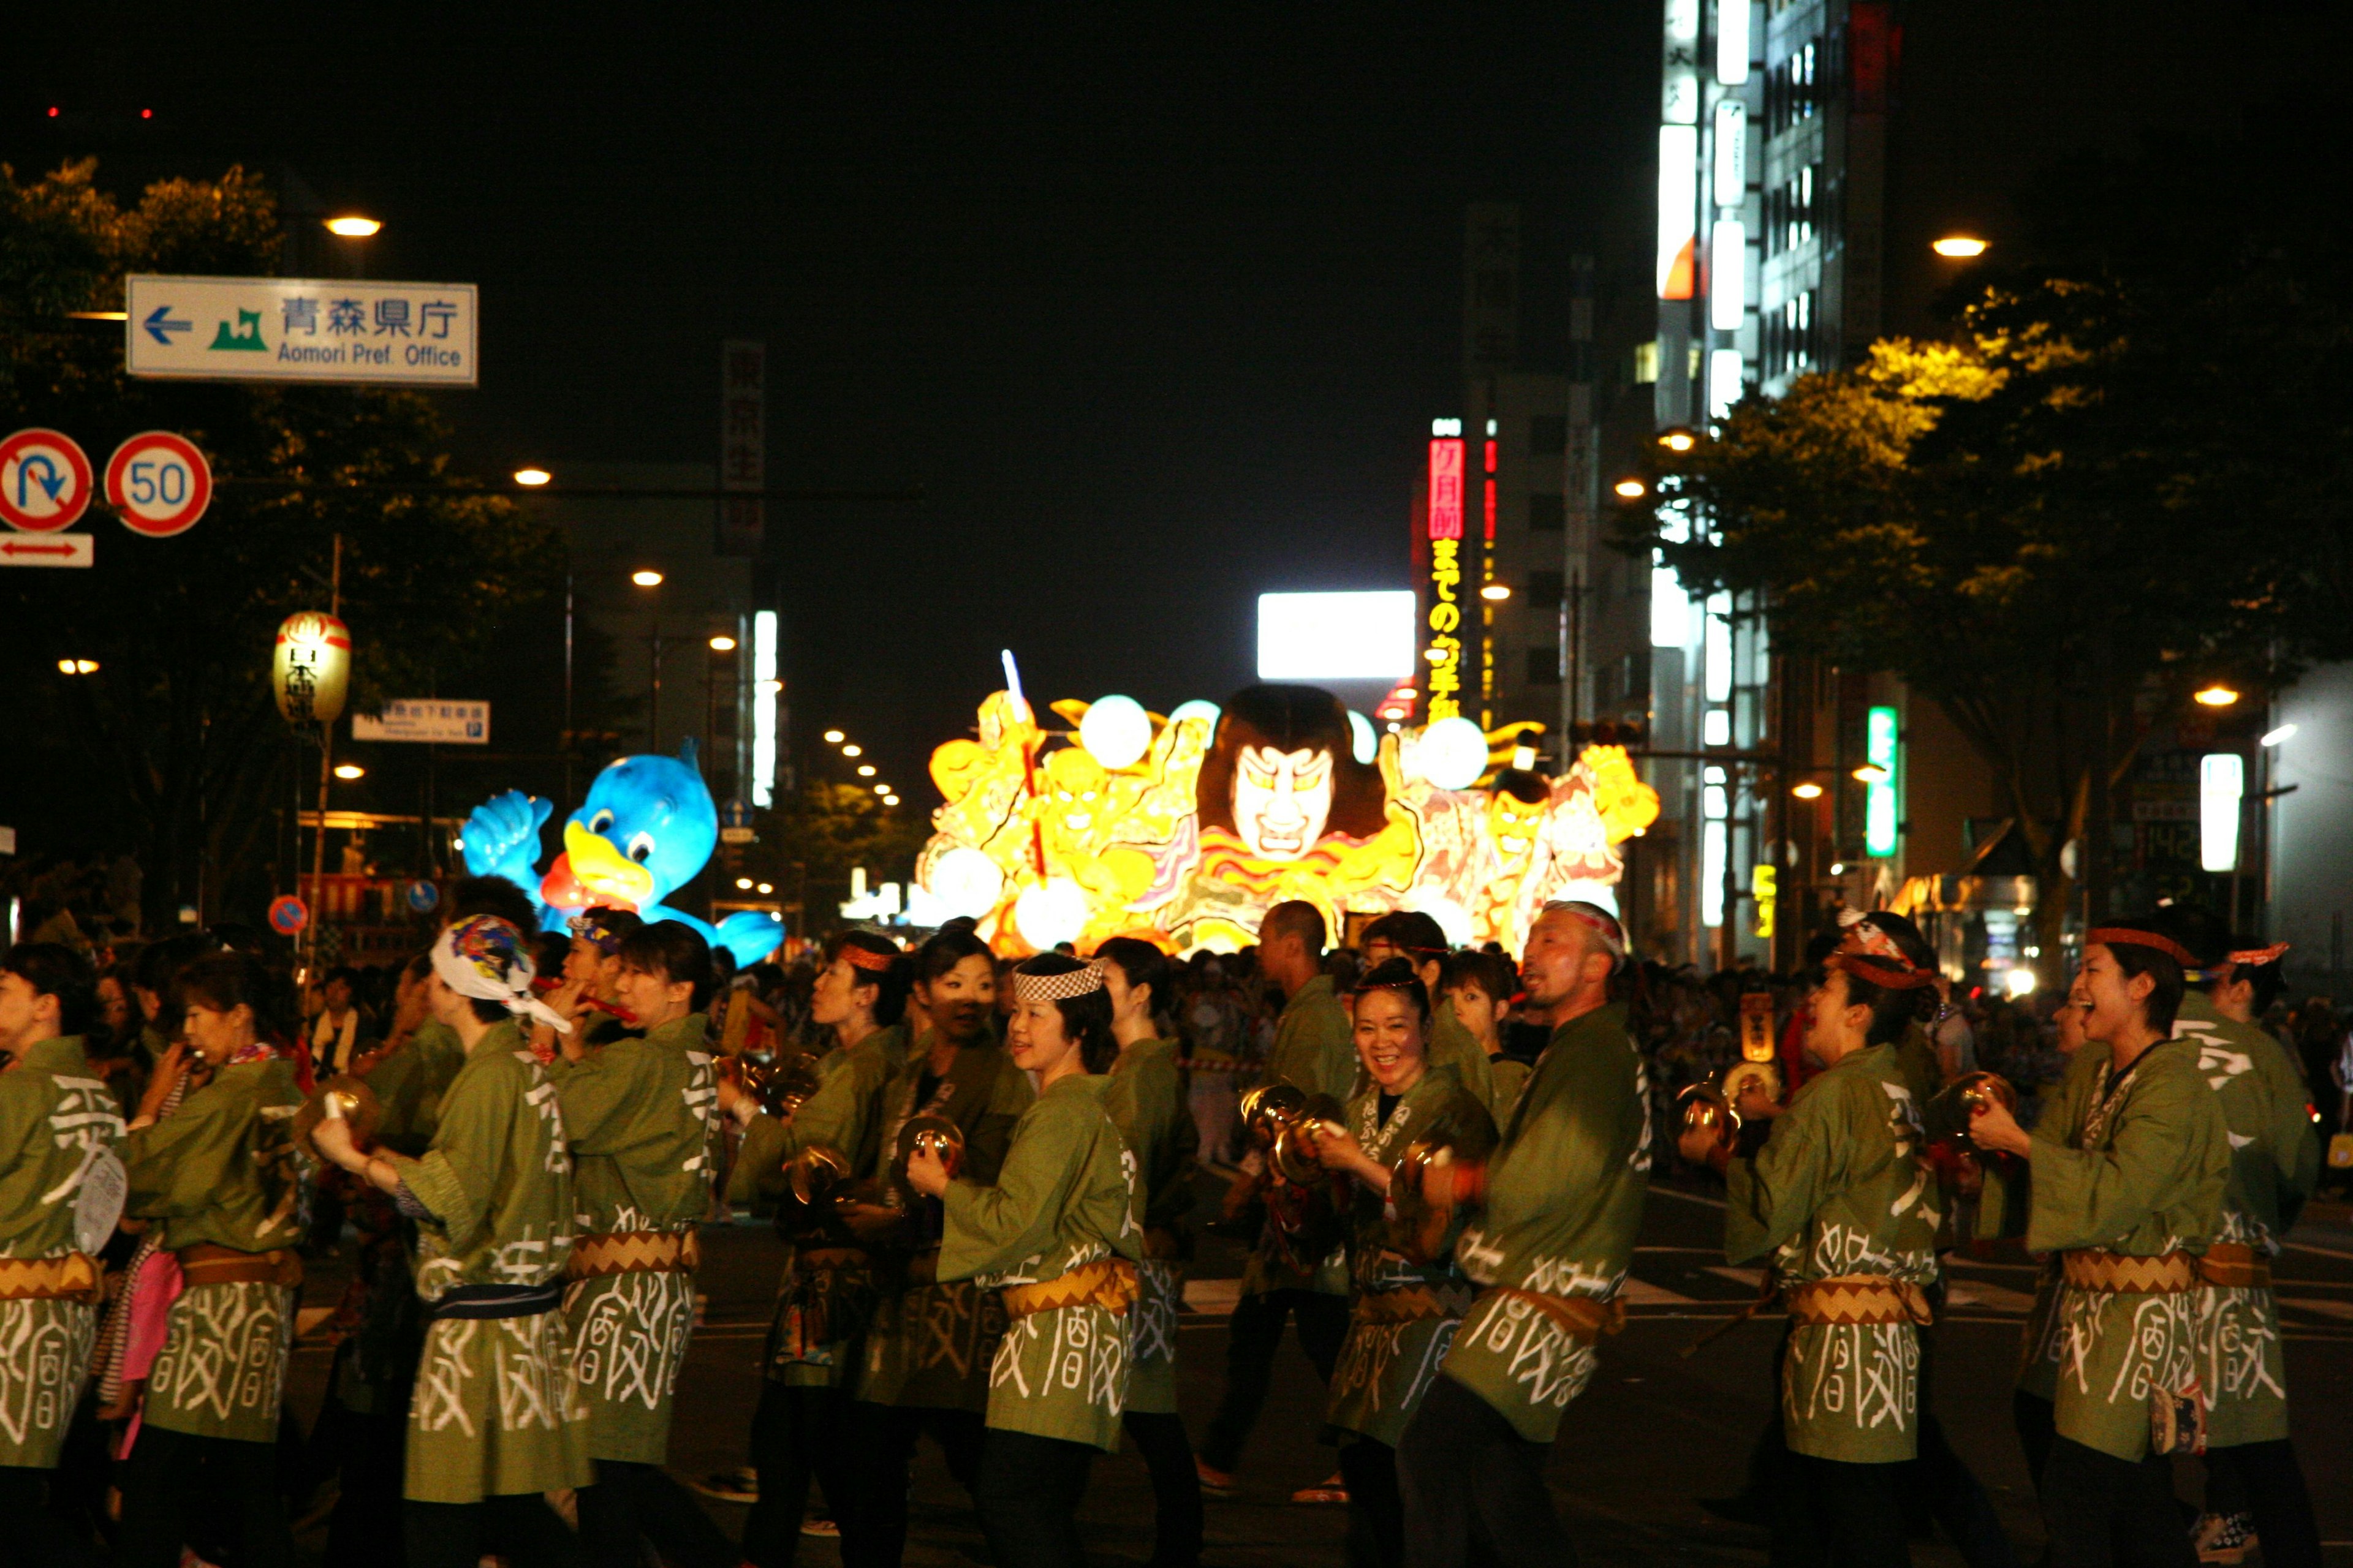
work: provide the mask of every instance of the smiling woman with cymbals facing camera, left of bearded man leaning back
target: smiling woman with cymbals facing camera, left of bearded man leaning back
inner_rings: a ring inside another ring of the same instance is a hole
[[[1355,1053],[1365,1093],[1337,1128],[1315,1135],[1315,1159],[1351,1182],[1346,1211],[1355,1307],[1332,1368],[1325,1410],[1348,1481],[1348,1563],[1400,1568],[1405,1500],[1398,1439],[1454,1345],[1471,1281],[1454,1267],[1466,1213],[1426,1229],[1400,1213],[1391,1171],[1414,1145],[1449,1159],[1487,1159],[1494,1117],[1452,1065],[1431,1060],[1431,992],[1409,959],[1386,959],[1355,985]],[[1419,1194],[1414,1194],[1419,1197]]]

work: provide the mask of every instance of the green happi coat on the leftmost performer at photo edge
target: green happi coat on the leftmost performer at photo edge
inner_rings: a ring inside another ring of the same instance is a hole
[[[0,1072],[0,1260],[80,1251],[82,1178],[120,1140],[115,1095],[89,1074],[80,1034],[28,1046]],[[96,1331],[96,1302],[0,1300],[0,1465],[56,1467]]]

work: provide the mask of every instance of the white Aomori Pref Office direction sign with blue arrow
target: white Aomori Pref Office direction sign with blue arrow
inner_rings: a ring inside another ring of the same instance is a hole
[[[129,277],[122,362],[184,381],[475,386],[471,282]]]

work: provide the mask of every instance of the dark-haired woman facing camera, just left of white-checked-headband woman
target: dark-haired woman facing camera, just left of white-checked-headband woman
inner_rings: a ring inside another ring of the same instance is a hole
[[[960,1175],[993,1182],[1028,1110],[1028,1079],[988,1034],[998,1001],[995,957],[969,929],[944,929],[915,952],[915,1001],[927,1032],[885,1088],[880,1204],[842,1208],[880,1253],[880,1291],[842,1420],[842,1450],[859,1458],[842,1514],[845,1568],[899,1568],[906,1549],[906,1476],[915,1439],[929,1434],[948,1472],[979,1479],[988,1366],[1005,1335],[1005,1305],[972,1279],[939,1279],[939,1204],[906,1185],[908,1121],[946,1121],[962,1138]],[[802,1107],[807,1110],[807,1107]]]

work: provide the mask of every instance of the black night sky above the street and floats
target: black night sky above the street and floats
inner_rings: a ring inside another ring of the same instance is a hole
[[[765,339],[772,484],[927,491],[769,522],[800,738],[904,776],[1000,646],[1165,710],[1252,677],[1257,592],[1405,583],[1466,202],[1525,209],[1529,369],[1572,249],[1647,263],[1652,0],[235,12],[42,24],[5,158],[381,216],[369,275],[482,287],[478,473],[713,461],[718,343]]]

